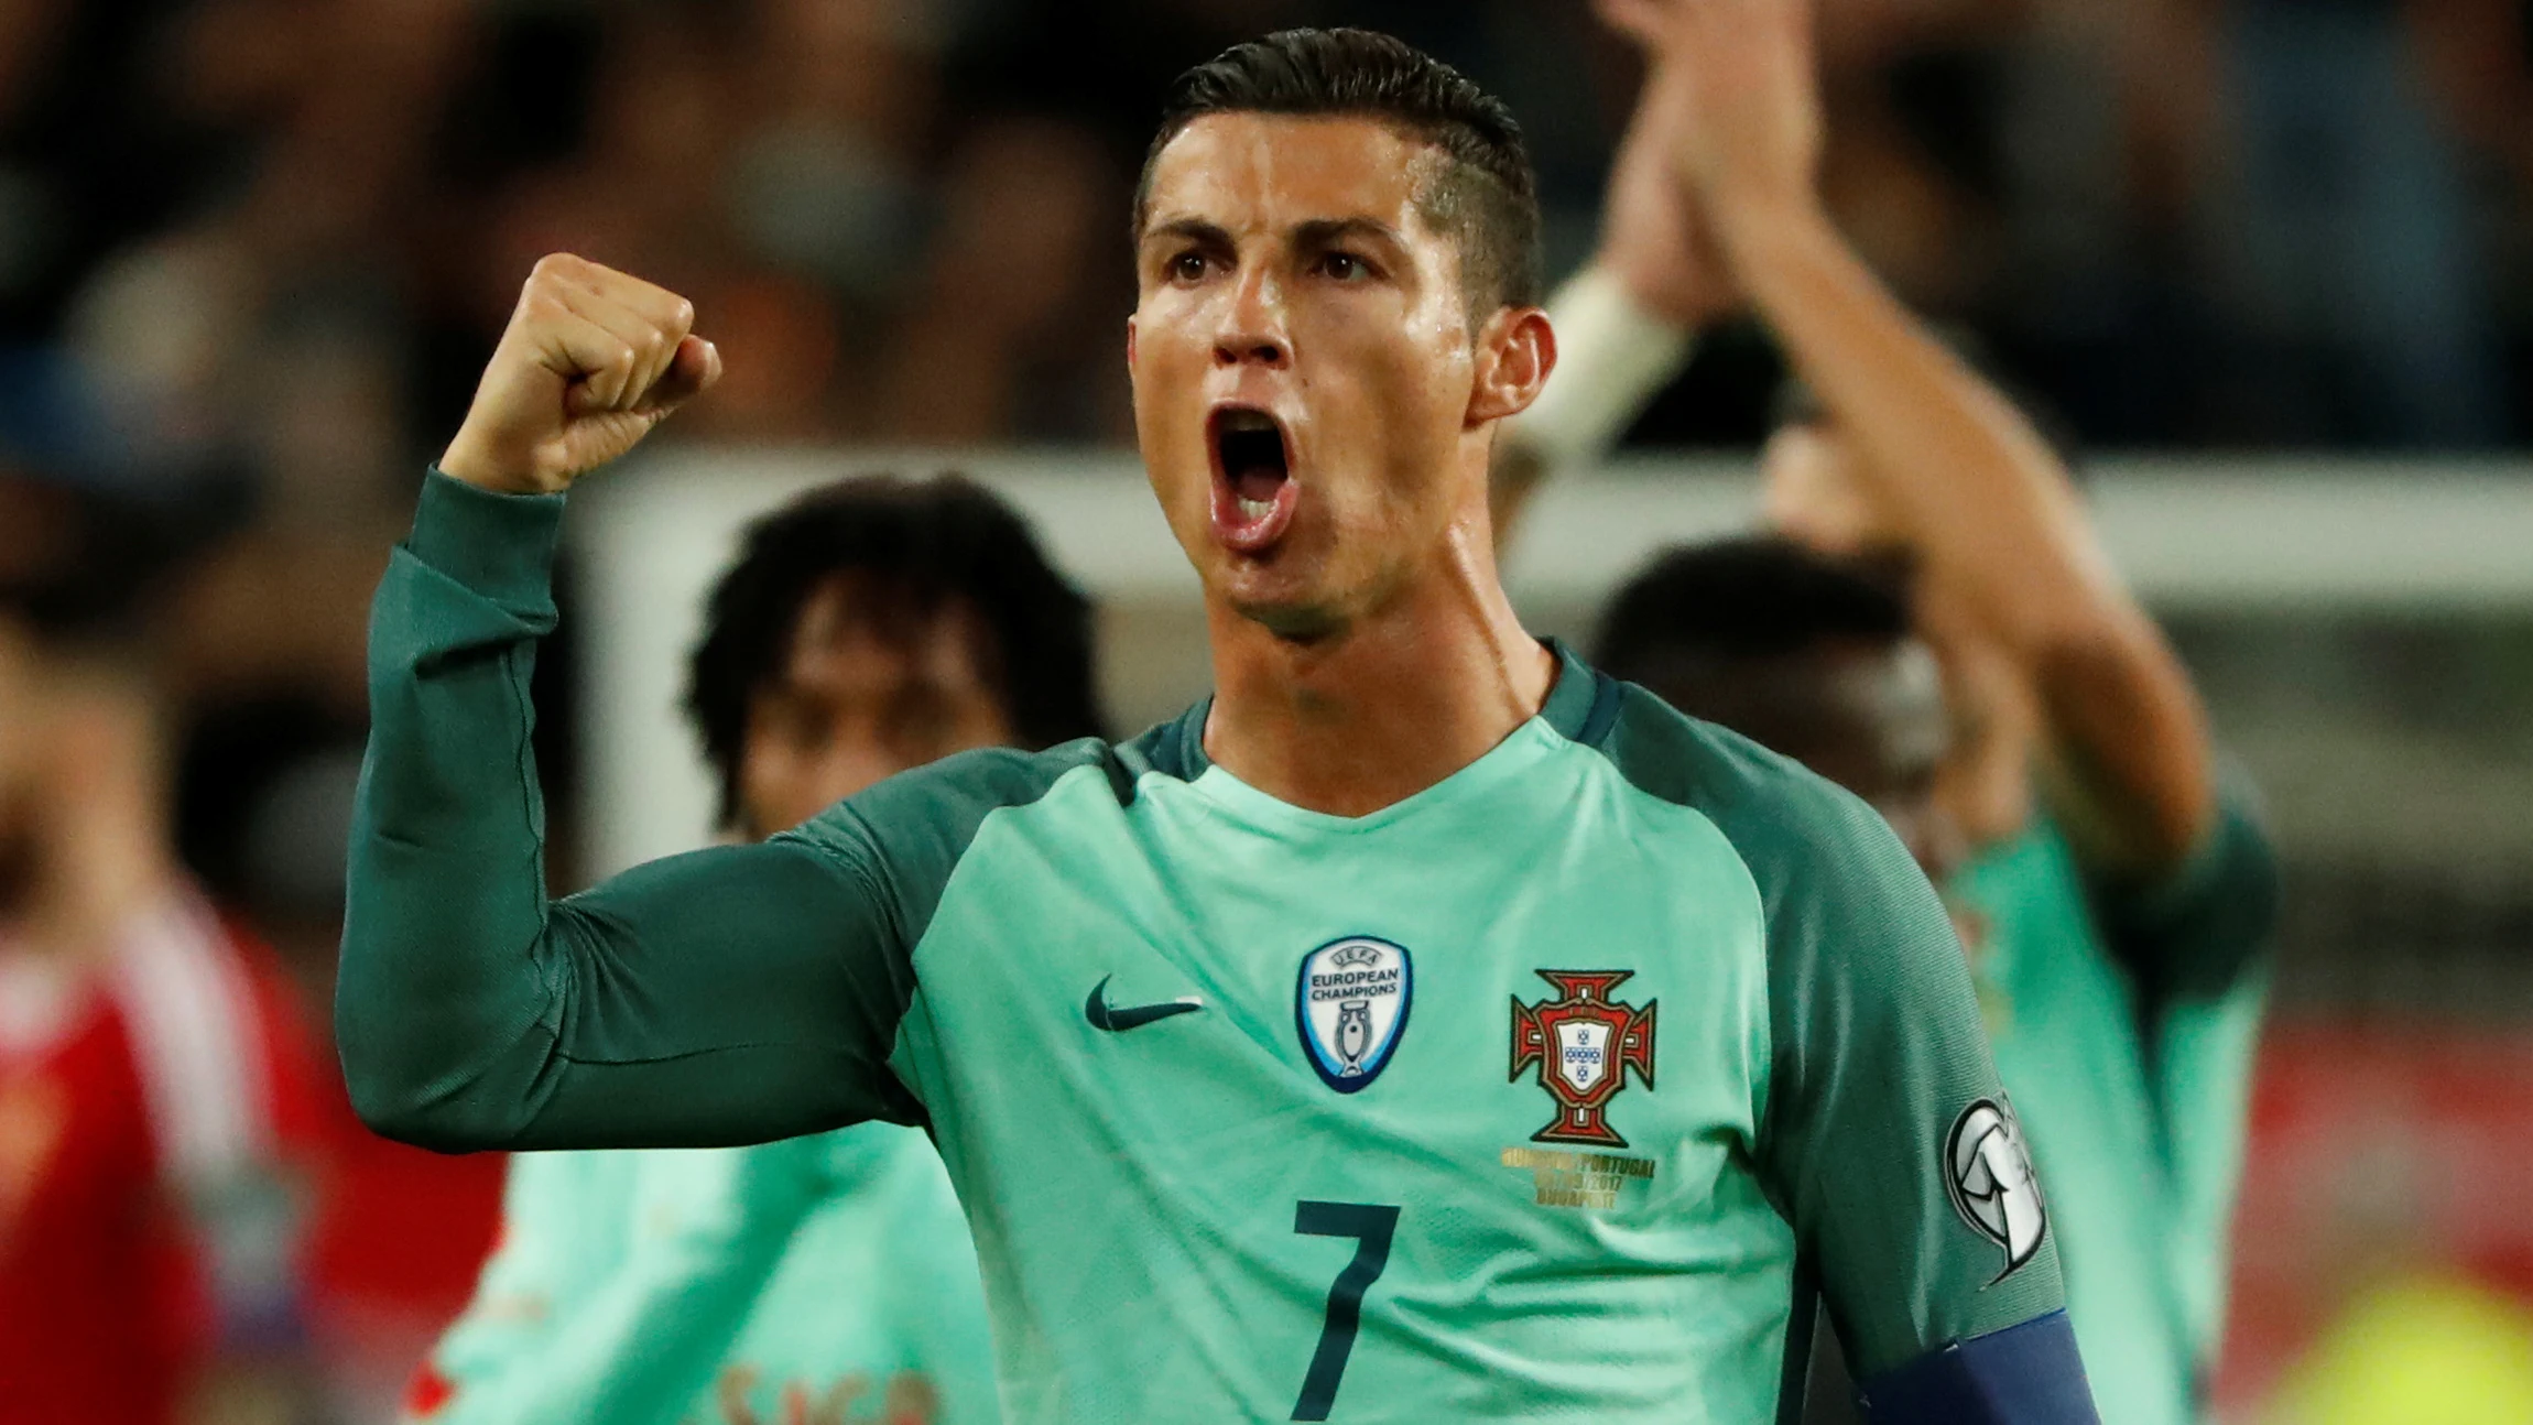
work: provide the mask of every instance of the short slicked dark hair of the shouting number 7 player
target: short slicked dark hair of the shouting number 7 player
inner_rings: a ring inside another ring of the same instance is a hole
[[[1449,165],[1416,208],[1459,243],[1472,316],[1540,301],[1540,192],[1522,127],[1439,58],[1378,30],[1277,30],[1180,73],[1135,185],[1137,238],[1160,149],[1208,114],[1380,119],[1434,144]]]

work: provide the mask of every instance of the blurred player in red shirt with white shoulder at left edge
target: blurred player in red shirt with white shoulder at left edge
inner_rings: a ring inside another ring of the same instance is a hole
[[[175,863],[155,716],[117,658],[0,610],[8,1425],[236,1407],[286,1382],[231,1367],[296,1349],[306,1040]]]

